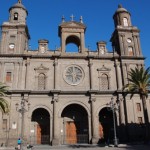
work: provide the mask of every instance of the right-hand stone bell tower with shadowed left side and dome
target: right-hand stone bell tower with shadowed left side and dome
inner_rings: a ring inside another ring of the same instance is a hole
[[[139,29],[132,26],[130,13],[121,5],[114,16],[115,31],[111,42],[113,49],[120,56],[142,56]]]

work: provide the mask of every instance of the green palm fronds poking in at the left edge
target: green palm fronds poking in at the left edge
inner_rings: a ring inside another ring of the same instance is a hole
[[[6,96],[7,92],[7,86],[0,83],[0,110],[2,113],[8,113],[9,112],[9,104],[4,99],[4,96]]]

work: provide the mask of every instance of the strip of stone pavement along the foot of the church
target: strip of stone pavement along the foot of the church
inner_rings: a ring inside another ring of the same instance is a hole
[[[150,145],[126,145],[119,144],[118,147],[110,146],[99,146],[99,145],[61,145],[61,146],[49,146],[49,145],[35,145],[32,150],[150,150]],[[15,147],[0,147],[0,150],[15,150]],[[26,146],[22,150],[27,149]]]

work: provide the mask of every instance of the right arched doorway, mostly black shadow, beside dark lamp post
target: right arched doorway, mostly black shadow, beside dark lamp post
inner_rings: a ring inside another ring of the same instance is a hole
[[[115,119],[116,120],[116,119]],[[105,107],[99,112],[100,143],[112,143],[114,138],[113,112]]]

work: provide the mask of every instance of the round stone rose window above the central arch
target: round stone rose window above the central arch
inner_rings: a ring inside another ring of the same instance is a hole
[[[83,79],[83,71],[78,66],[69,66],[64,72],[64,79],[68,84],[77,85]]]

